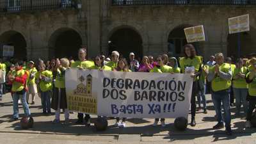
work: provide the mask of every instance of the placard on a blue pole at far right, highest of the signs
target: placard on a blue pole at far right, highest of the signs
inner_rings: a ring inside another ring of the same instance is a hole
[[[229,33],[239,33],[243,31],[250,31],[249,14],[241,15],[239,17],[232,17],[228,19]]]

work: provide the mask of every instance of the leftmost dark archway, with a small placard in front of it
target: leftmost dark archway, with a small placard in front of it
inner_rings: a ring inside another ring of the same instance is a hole
[[[26,59],[27,43],[21,33],[17,31],[6,31],[0,36],[1,56],[3,56],[3,45],[12,45],[14,47],[13,58],[19,58],[19,60]]]

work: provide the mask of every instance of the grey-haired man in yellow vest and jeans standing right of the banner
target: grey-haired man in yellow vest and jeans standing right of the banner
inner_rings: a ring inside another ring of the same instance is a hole
[[[207,81],[211,82],[212,90],[212,102],[216,111],[216,119],[218,124],[214,125],[213,129],[222,129],[225,127],[227,134],[233,134],[230,127],[231,113],[230,113],[230,92],[231,92],[231,79],[232,79],[232,68],[228,63],[223,63],[224,55],[219,52],[215,54],[216,65],[210,67]],[[221,101],[225,113],[223,120],[223,114],[221,110]]]

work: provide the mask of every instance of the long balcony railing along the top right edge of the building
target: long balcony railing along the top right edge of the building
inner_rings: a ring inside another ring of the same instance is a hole
[[[159,5],[159,4],[201,4],[201,5],[256,5],[256,0],[112,0],[112,6]]]

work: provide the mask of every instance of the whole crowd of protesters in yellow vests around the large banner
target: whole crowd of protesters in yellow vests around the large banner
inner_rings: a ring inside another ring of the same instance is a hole
[[[60,122],[60,113],[63,109],[65,113],[65,122],[69,122],[69,111],[67,109],[67,97],[65,90],[65,70],[67,68],[77,68],[77,70],[99,69],[113,70],[121,72],[157,72],[170,74],[185,74],[187,67],[194,67],[195,71],[191,73],[193,79],[191,93],[191,126],[196,125],[196,111],[203,111],[207,114],[207,102],[205,93],[211,93],[212,102],[216,111],[218,124],[213,129],[226,128],[227,134],[232,134],[230,106],[234,106],[236,99],[236,113],[241,113],[243,104],[243,117],[246,118],[245,127],[250,128],[250,118],[256,105],[256,54],[250,54],[247,58],[234,59],[234,56],[224,58],[222,53],[216,53],[210,56],[210,61],[204,62],[203,56],[196,56],[193,45],[186,44],[183,47],[184,57],[175,58],[172,52],[160,56],[140,56],[135,58],[134,52],[129,53],[126,60],[123,54],[113,51],[109,58],[104,55],[97,55],[95,58],[86,60],[86,49],[78,50],[78,60],[68,59],[60,60],[52,57],[52,60],[43,61],[38,57],[38,61],[19,60],[18,58],[4,57],[1,60],[1,70],[6,71],[6,79],[12,87],[13,97],[13,118],[10,122],[19,118],[19,101],[22,103],[25,115],[31,115],[28,104],[31,94],[31,103],[35,104],[35,95],[41,98],[43,115],[49,115],[51,109],[55,110],[55,119],[52,123]],[[6,83],[0,84],[0,100],[6,93]],[[202,97],[202,100],[201,100]],[[198,107],[196,108],[196,98]],[[19,100],[20,99],[20,100]],[[225,115],[222,114],[222,106]],[[201,106],[201,103],[203,104]],[[224,118],[223,118],[224,116]],[[78,113],[76,124],[90,125],[90,115]],[[116,118],[116,127],[125,127],[127,118]],[[122,120],[122,121],[121,121]],[[159,118],[155,119],[153,126],[157,126]],[[224,125],[225,123],[225,125]],[[165,127],[164,118],[161,118],[161,125]]]

